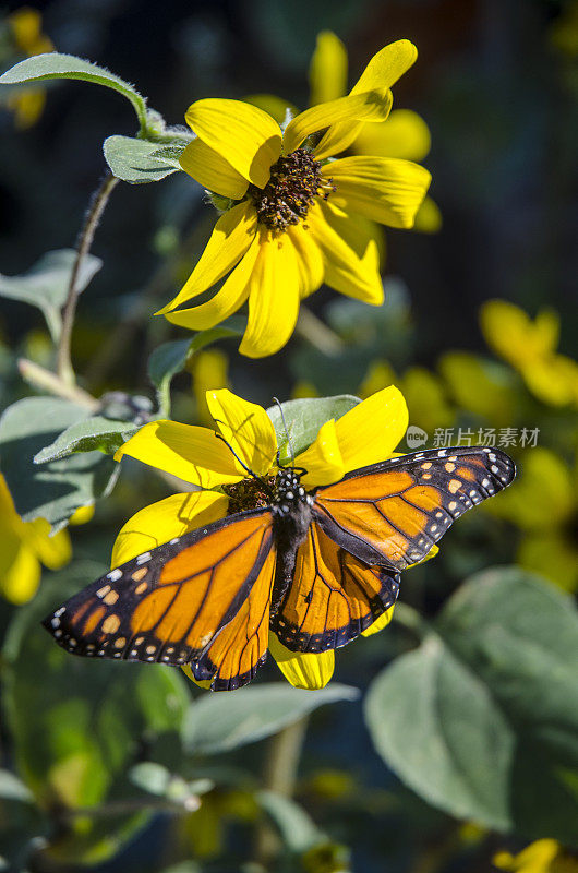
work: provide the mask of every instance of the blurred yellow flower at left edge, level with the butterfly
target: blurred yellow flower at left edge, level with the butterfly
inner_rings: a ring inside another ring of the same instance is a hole
[[[22,521],[0,475],[0,594],[10,602],[25,603],[34,597],[41,564],[58,570],[70,561],[68,531],[49,534],[50,525],[44,518]]]

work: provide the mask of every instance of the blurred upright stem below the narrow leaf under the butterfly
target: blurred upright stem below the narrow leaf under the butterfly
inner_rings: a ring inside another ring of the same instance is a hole
[[[292,797],[306,730],[308,718],[302,718],[272,738],[265,758],[263,788],[276,791],[286,798]],[[262,820],[255,835],[255,863],[264,870],[273,869],[279,847],[276,832]]]

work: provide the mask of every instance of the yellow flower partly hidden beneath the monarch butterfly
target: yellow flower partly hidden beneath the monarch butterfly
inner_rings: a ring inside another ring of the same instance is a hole
[[[172,494],[137,512],[119,533],[111,566],[119,566],[240,507],[248,509],[243,499],[249,480],[240,462],[260,477],[277,471],[277,436],[270,418],[261,406],[228,390],[208,391],[206,402],[217,432],[230,449],[208,428],[153,421],[141,428],[115,455],[117,461],[129,455],[203,490]],[[349,470],[392,457],[407,423],[406,403],[393,386],[358,404],[341,418],[330,419],[321,427],[309,449],[296,457],[296,466],[308,470],[303,485],[310,489],[328,485]],[[392,612],[393,608],[381,615],[365,635],[384,627]],[[333,650],[320,655],[296,654],[272,633],[269,651],[292,685],[323,687],[333,675]],[[188,674],[191,675],[190,671]]]

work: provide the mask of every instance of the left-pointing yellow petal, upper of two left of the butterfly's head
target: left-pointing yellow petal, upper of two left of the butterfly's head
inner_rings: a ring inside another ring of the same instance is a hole
[[[123,455],[201,488],[238,482],[245,476],[230,449],[213,431],[177,421],[145,424],[121,445],[115,461]]]

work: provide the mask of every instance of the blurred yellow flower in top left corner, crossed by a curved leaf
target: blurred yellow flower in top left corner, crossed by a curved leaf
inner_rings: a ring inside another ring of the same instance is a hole
[[[13,41],[14,53],[44,55],[53,51],[55,46],[43,34],[43,19],[38,10],[22,7],[7,17],[8,28]],[[31,128],[43,113],[46,103],[44,88],[19,88],[8,98],[8,107],[14,112],[16,128]]]

